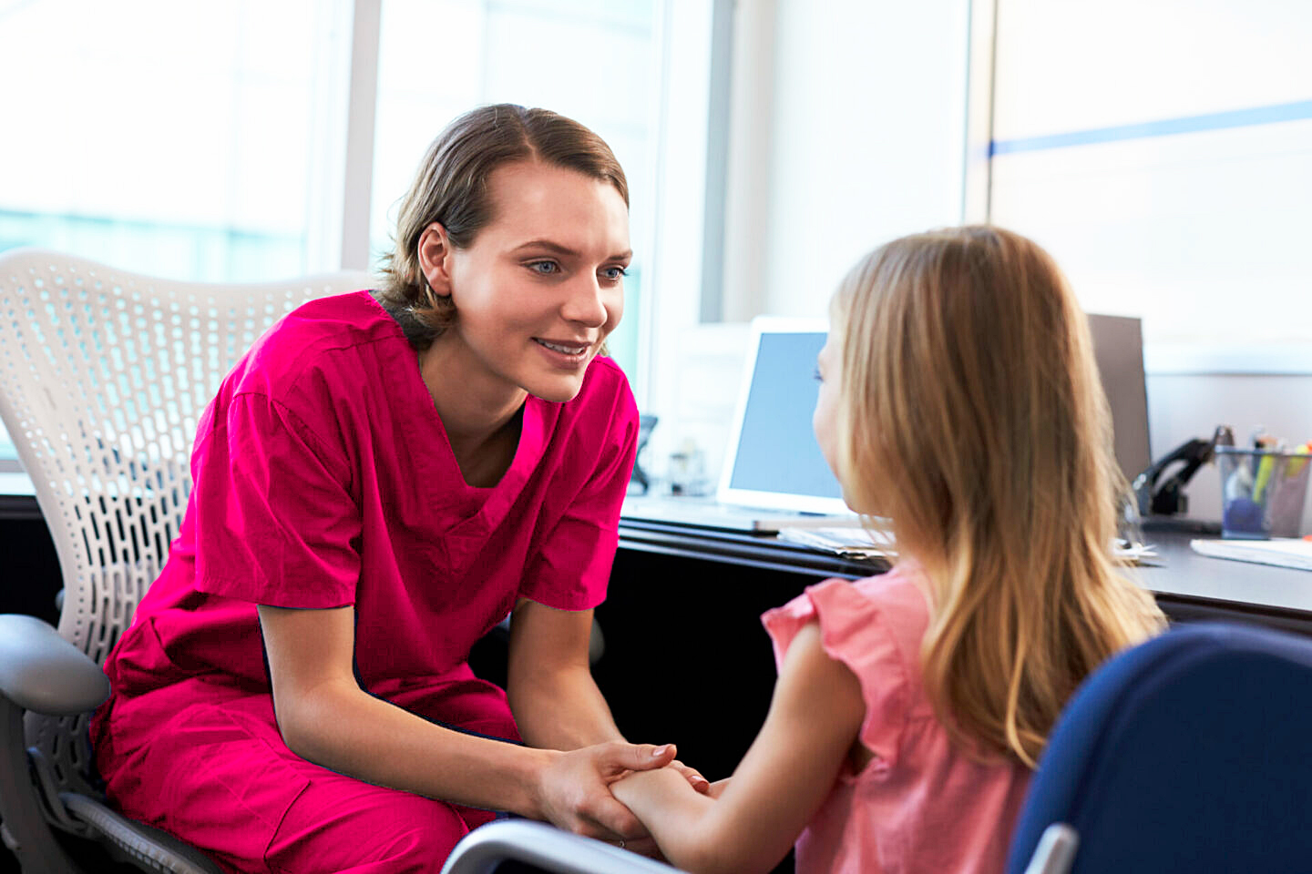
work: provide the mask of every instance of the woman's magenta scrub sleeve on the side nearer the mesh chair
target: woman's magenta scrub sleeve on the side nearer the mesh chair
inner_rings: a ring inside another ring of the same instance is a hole
[[[342,459],[291,410],[241,393],[202,419],[193,463],[203,592],[257,604],[353,604],[359,510]]]

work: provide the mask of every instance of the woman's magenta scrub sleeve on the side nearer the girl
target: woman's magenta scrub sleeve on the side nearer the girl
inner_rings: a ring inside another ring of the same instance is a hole
[[[592,453],[590,473],[543,539],[520,587],[521,596],[547,607],[583,611],[606,600],[619,545],[619,511],[638,451],[638,406],[622,375],[619,381],[614,405],[605,418],[594,419],[593,427],[604,434],[602,449]]]

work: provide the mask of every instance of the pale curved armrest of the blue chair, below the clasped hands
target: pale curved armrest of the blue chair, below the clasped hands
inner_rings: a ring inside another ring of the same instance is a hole
[[[551,874],[680,874],[680,869],[546,823],[502,819],[461,839],[442,874],[487,874],[516,860]]]

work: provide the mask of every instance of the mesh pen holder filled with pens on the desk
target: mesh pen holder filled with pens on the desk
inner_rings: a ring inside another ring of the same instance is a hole
[[[1298,537],[1312,455],[1216,447],[1221,537]]]

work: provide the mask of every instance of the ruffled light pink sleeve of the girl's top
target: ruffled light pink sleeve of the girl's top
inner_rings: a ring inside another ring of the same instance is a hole
[[[820,643],[825,653],[846,664],[861,683],[866,704],[861,743],[886,767],[892,767],[908,719],[911,688],[887,617],[876,601],[846,580],[828,579],[810,586],[783,607],[761,616],[774,645],[777,666],[783,664],[798,632],[815,621],[820,622]]]

